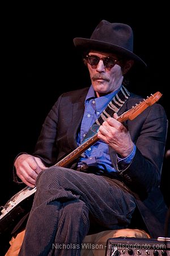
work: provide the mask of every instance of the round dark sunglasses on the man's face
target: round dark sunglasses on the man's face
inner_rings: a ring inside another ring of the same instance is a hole
[[[111,69],[114,67],[114,65],[117,63],[119,60],[114,60],[112,57],[104,57],[100,58],[96,55],[87,55],[86,59],[88,61],[88,64],[90,64],[92,67],[97,66],[100,60],[103,60],[103,64],[105,68]]]

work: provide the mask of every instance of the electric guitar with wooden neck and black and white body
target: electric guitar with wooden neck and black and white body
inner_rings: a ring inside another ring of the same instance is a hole
[[[139,104],[133,106],[130,110],[121,114],[117,120],[119,122],[124,122],[128,119],[133,120],[139,114],[143,112],[148,106],[153,105],[156,101],[160,99],[162,93],[156,92],[151,94],[150,97],[147,97]],[[67,155],[65,158],[60,160],[54,166],[67,167],[68,164],[72,163],[76,158],[78,158],[84,151],[87,150],[90,146],[95,144],[99,139],[97,134],[88,139],[86,142],[81,144],[73,152]],[[7,201],[4,207],[1,207],[0,212],[0,234],[12,230],[14,226],[19,222],[19,220],[25,216],[26,213],[31,210],[31,205],[33,202],[33,196],[36,192],[35,188],[25,187],[16,195],[12,196],[10,200]]]

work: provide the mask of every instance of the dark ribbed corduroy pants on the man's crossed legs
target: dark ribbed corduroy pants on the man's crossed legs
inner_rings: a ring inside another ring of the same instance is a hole
[[[63,167],[42,171],[19,255],[79,256],[89,216],[105,229],[125,228],[135,209],[116,179]]]

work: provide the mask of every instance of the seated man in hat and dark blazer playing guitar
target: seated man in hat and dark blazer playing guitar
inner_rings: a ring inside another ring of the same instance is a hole
[[[137,204],[146,220],[156,215],[152,236],[163,235],[165,112],[154,104],[133,121],[117,121],[142,100],[122,85],[133,64],[146,65],[133,53],[133,31],[102,20],[90,39],[75,38],[74,44],[92,85],[63,93],[45,119],[34,154],[15,160],[19,178],[37,187],[19,255],[80,255],[91,219],[103,229],[126,228]],[[95,133],[99,141],[67,168],[54,166]]]

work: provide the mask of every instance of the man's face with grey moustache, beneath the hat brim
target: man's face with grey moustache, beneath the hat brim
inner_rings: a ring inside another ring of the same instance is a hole
[[[108,94],[117,90],[122,83],[122,69],[120,66],[120,61],[116,55],[111,55],[109,53],[90,51],[89,56],[97,56],[99,58],[110,57],[111,59],[98,59],[99,63],[96,65],[90,65],[87,63],[88,71],[90,72],[90,77],[92,81],[92,86],[97,94],[97,97],[103,94]],[[114,64],[114,60],[116,63]],[[97,60],[96,60],[97,62]],[[109,63],[113,62],[113,67],[109,67]],[[105,64],[105,65],[104,65]],[[105,67],[106,66],[106,67]]]

